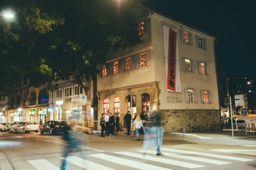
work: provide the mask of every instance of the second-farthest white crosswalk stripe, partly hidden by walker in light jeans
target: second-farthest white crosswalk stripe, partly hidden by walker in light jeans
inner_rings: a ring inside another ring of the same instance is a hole
[[[143,150],[138,150],[140,152],[143,152]],[[147,150],[148,153],[150,154],[155,154],[156,152],[153,150]],[[231,164],[230,162],[224,162],[220,160],[213,160],[213,159],[206,159],[206,158],[199,158],[199,157],[194,157],[194,156],[186,156],[186,155],[178,155],[178,154],[170,154],[170,153],[164,153],[164,156],[168,157],[174,157],[174,158],[182,158],[182,159],[188,159],[188,160],[195,160],[198,162],[203,162],[203,163],[210,163],[210,164],[216,164],[216,165],[225,165],[225,164]]]

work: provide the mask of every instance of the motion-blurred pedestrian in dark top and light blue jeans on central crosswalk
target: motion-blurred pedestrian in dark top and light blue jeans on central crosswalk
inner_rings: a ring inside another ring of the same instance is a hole
[[[155,110],[148,112],[146,115],[145,122],[145,138],[143,142],[143,155],[149,146],[157,145],[157,156],[162,156],[161,152],[162,141],[163,141],[163,129],[161,128],[161,117]]]

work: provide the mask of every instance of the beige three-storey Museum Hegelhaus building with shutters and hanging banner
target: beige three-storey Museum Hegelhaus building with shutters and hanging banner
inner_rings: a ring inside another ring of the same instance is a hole
[[[97,77],[99,115],[162,111],[167,132],[220,131],[215,38],[141,6],[143,44],[109,54]]]

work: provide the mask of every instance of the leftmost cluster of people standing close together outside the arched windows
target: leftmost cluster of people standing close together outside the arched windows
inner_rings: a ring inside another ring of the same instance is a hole
[[[114,137],[114,128],[116,126],[116,131],[120,132],[119,129],[120,117],[119,114],[112,113],[102,113],[100,117],[100,126],[101,126],[101,137],[105,137],[104,130],[106,130],[106,135],[109,137]]]

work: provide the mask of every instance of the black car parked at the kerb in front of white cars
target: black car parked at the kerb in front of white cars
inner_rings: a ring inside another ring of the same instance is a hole
[[[68,124],[66,121],[47,121],[40,127],[40,133],[44,134],[49,132],[50,134],[65,133],[68,130]]]

